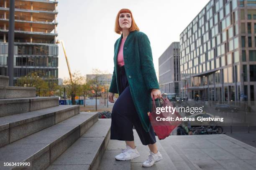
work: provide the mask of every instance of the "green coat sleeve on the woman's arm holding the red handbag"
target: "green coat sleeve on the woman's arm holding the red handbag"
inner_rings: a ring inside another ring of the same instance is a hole
[[[159,89],[159,84],[156,78],[156,72],[153,63],[152,51],[148,36],[141,32],[138,40],[139,55],[141,59],[142,76],[146,83],[147,89]]]

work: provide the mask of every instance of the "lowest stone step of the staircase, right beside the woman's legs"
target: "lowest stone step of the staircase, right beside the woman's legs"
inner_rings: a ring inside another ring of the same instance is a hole
[[[110,139],[111,119],[100,119],[46,170],[97,170]]]

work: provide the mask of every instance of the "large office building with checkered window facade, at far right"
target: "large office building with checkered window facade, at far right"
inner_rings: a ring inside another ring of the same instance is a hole
[[[182,97],[255,100],[256,0],[210,0],[180,34]]]

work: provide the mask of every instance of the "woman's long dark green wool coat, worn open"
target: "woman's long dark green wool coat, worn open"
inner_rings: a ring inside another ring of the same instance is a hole
[[[123,34],[115,42],[114,47],[114,72],[109,92],[120,95],[120,81],[117,72],[117,56]],[[151,90],[159,89],[154,69],[152,52],[148,37],[143,32],[132,31],[129,33],[123,46],[123,60],[128,78],[133,103],[138,112],[143,128],[149,131],[150,121],[148,112],[151,111]]]

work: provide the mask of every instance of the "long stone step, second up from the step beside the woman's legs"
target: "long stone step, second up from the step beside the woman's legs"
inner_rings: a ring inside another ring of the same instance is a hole
[[[81,112],[0,148],[0,169],[14,168],[13,166],[4,167],[3,162],[30,162],[32,169],[44,170],[97,120],[96,112]]]

